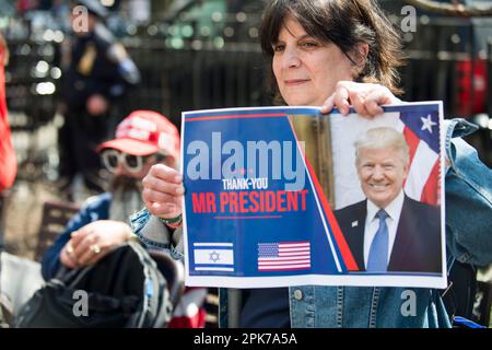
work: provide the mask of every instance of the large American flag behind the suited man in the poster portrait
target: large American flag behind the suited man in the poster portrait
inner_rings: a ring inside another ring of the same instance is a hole
[[[438,205],[440,125],[438,113],[401,112],[397,129],[410,147],[410,172],[405,192],[429,205]]]

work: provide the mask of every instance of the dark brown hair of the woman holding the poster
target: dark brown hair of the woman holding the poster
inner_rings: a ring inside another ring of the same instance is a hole
[[[400,37],[374,0],[272,0],[261,25],[261,49],[271,60],[286,18],[297,20],[306,33],[337,45],[355,65],[356,44],[366,43],[368,54],[356,81],[379,83],[399,94],[397,68],[402,65]],[[271,65],[270,65],[271,66]],[[277,91],[277,83],[272,81]]]

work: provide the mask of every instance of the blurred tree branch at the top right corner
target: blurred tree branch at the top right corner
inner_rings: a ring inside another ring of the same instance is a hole
[[[492,16],[492,5],[469,5],[461,3],[440,3],[432,0],[403,0],[421,10],[460,18],[488,18]]]

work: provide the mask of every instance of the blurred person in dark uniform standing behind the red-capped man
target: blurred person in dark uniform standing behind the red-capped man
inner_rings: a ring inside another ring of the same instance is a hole
[[[73,199],[71,185],[78,174],[87,189],[103,191],[95,149],[119,121],[118,103],[140,81],[134,62],[104,24],[107,9],[97,0],[71,4],[74,37],[63,59],[60,112],[65,124],[58,133],[58,186],[68,199]]]

